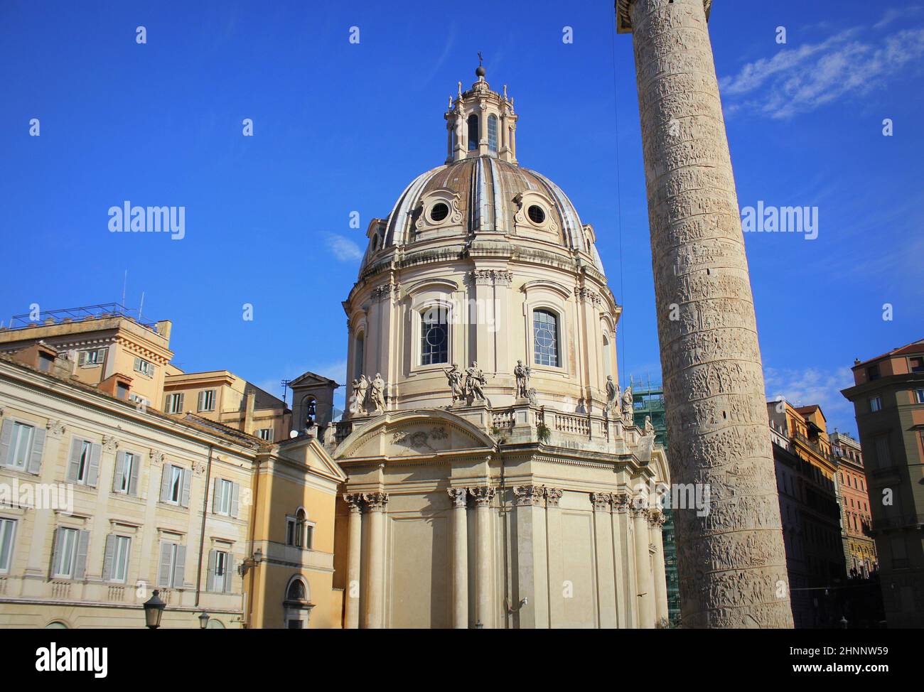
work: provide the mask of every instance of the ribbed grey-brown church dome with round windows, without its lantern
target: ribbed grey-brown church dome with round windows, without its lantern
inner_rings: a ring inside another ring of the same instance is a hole
[[[463,159],[415,178],[371,233],[363,264],[379,250],[432,238],[502,234],[590,253],[603,271],[593,231],[549,178],[492,156]]]

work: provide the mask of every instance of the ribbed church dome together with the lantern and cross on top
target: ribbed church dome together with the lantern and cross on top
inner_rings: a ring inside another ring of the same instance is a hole
[[[414,178],[391,213],[372,219],[360,277],[395,252],[506,242],[564,254],[603,273],[593,227],[548,177],[517,164],[514,100],[492,91],[483,68],[450,99],[443,165]]]

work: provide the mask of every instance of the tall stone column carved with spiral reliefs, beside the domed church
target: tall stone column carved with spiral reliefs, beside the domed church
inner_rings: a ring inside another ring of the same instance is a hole
[[[707,28],[711,0],[617,0],[638,79],[682,625],[791,627],[757,322]]]

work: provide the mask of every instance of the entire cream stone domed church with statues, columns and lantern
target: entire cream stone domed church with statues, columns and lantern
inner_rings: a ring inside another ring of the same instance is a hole
[[[593,227],[517,163],[482,67],[444,164],[373,219],[344,301],[346,627],[654,627],[667,619],[654,429],[616,363]]]

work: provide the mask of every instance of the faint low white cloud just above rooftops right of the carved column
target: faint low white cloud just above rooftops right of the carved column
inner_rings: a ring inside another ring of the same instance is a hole
[[[841,394],[842,389],[854,383],[850,368],[778,370],[767,367],[764,368],[763,376],[767,401],[782,396],[794,407],[817,404],[824,411],[830,431],[835,427],[842,431],[856,430],[853,404]]]

